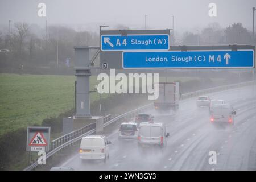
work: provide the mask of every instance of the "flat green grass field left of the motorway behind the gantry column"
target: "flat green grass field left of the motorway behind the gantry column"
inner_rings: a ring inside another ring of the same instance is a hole
[[[90,90],[96,84],[92,76]],[[74,85],[75,76],[0,74],[0,135],[74,108]]]

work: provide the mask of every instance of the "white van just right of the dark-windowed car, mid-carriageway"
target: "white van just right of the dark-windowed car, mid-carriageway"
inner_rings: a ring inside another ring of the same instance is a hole
[[[150,146],[160,146],[163,148],[167,144],[166,138],[169,137],[169,135],[169,133],[166,133],[164,123],[142,122],[139,125],[139,148]]]

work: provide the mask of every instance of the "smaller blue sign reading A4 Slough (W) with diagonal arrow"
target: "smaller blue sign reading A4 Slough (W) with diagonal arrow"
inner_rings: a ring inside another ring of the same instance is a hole
[[[168,34],[101,35],[101,51],[168,49]]]

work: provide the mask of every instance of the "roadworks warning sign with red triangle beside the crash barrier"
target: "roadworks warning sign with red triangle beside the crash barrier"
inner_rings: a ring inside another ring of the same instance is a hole
[[[27,151],[49,151],[51,127],[28,127],[27,128]]]

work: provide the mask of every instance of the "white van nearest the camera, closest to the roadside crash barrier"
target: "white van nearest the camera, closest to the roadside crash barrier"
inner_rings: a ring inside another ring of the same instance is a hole
[[[80,159],[106,159],[109,158],[109,144],[105,135],[87,135],[80,144]]]

